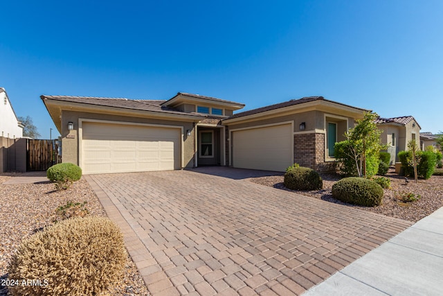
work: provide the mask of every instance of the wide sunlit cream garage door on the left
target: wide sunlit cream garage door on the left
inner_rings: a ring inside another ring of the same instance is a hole
[[[179,128],[84,122],[82,170],[91,174],[178,169],[180,139]]]

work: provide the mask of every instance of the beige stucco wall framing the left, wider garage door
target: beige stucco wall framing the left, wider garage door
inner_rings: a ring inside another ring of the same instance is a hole
[[[185,167],[194,166],[195,128],[192,122],[150,119],[143,117],[96,114],[89,112],[62,111],[62,162],[79,165],[79,119],[95,119],[103,121],[121,121],[125,123],[147,123],[156,125],[183,126],[183,162]],[[74,123],[74,129],[68,130],[68,123]],[[188,137],[186,130],[191,130]]]

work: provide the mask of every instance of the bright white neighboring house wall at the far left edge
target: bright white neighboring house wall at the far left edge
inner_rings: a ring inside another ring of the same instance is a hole
[[[6,90],[0,87],[0,137],[17,139],[23,137],[24,125],[17,119]]]

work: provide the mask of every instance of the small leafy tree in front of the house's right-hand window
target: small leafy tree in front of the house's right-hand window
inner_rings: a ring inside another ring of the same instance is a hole
[[[380,150],[386,149],[386,145],[381,144],[380,134],[381,130],[377,127],[375,119],[377,119],[377,113],[365,112],[363,119],[357,121],[357,125],[354,128],[350,128],[345,132],[347,140],[338,143],[340,147],[337,155],[338,158],[344,164],[349,164],[349,160],[355,164],[355,168],[352,171],[356,171],[357,176],[368,177],[368,160],[374,162],[377,160]],[[349,168],[346,171],[350,171]],[[377,173],[375,171],[374,173]],[[374,175],[372,171],[369,175]]]

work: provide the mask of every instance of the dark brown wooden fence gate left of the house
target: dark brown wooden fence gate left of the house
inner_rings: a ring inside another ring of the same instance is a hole
[[[46,171],[61,162],[55,140],[28,139],[27,148],[26,171]]]

